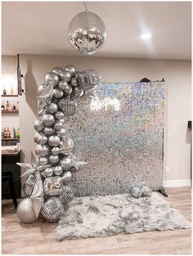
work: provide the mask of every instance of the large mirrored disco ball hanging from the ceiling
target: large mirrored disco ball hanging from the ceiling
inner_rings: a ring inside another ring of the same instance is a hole
[[[70,21],[69,40],[80,53],[92,54],[105,43],[105,24],[91,11],[83,11]]]

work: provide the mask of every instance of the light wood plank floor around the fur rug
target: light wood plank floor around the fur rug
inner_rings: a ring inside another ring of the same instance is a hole
[[[166,189],[175,209],[191,221],[191,188]],[[2,205],[2,254],[191,254],[191,230],[151,231],[81,240],[56,240],[56,223],[20,223]]]

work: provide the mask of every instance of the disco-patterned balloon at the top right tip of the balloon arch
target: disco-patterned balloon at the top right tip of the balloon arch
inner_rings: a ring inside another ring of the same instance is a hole
[[[79,88],[83,91],[92,90],[99,83],[99,76],[95,70],[84,70],[78,75]]]

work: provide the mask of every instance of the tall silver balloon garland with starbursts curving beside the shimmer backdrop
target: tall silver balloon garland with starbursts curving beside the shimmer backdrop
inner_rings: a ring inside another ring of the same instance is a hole
[[[31,164],[26,168],[23,191],[29,197],[20,202],[17,216],[21,222],[33,222],[41,213],[47,222],[56,222],[64,213],[63,204],[74,198],[71,185],[74,171],[83,162],[74,156],[74,141],[67,136],[65,116],[74,115],[77,97],[93,94],[99,82],[94,70],[76,71],[73,65],[55,67],[38,88],[38,119],[34,121],[34,141],[38,144]],[[90,93],[90,94],[89,94]]]

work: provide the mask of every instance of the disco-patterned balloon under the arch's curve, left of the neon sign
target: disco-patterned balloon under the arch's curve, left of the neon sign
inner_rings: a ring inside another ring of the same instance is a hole
[[[74,115],[77,110],[77,103],[76,101],[71,100],[69,97],[64,97],[58,101],[58,108],[66,116]]]

